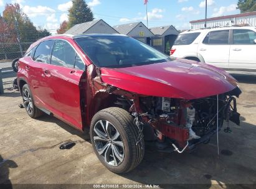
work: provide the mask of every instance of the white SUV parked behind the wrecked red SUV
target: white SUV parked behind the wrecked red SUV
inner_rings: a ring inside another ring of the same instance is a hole
[[[255,75],[255,51],[255,27],[218,27],[179,34],[171,56],[209,63],[229,73]]]

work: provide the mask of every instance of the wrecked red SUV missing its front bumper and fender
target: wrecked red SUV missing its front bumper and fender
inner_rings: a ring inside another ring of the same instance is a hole
[[[31,118],[90,127],[98,159],[115,173],[140,164],[145,141],[181,153],[207,143],[224,121],[239,124],[232,76],[125,35],[40,39],[19,60],[17,82]]]

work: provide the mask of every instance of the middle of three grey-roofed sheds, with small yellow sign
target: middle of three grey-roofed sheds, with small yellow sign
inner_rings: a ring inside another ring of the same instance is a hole
[[[142,22],[115,25],[113,29],[120,34],[128,35],[148,45],[151,44],[151,37],[154,37],[154,34]]]

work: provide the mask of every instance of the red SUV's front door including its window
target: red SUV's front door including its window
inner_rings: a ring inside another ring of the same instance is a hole
[[[55,41],[51,64],[44,71],[49,75],[50,93],[46,96],[52,100],[50,111],[82,129],[79,83],[85,64],[69,42]]]

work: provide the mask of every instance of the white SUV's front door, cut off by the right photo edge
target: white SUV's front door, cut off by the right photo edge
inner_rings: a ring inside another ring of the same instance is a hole
[[[256,71],[256,32],[234,29],[232,36],[229,70]]]

